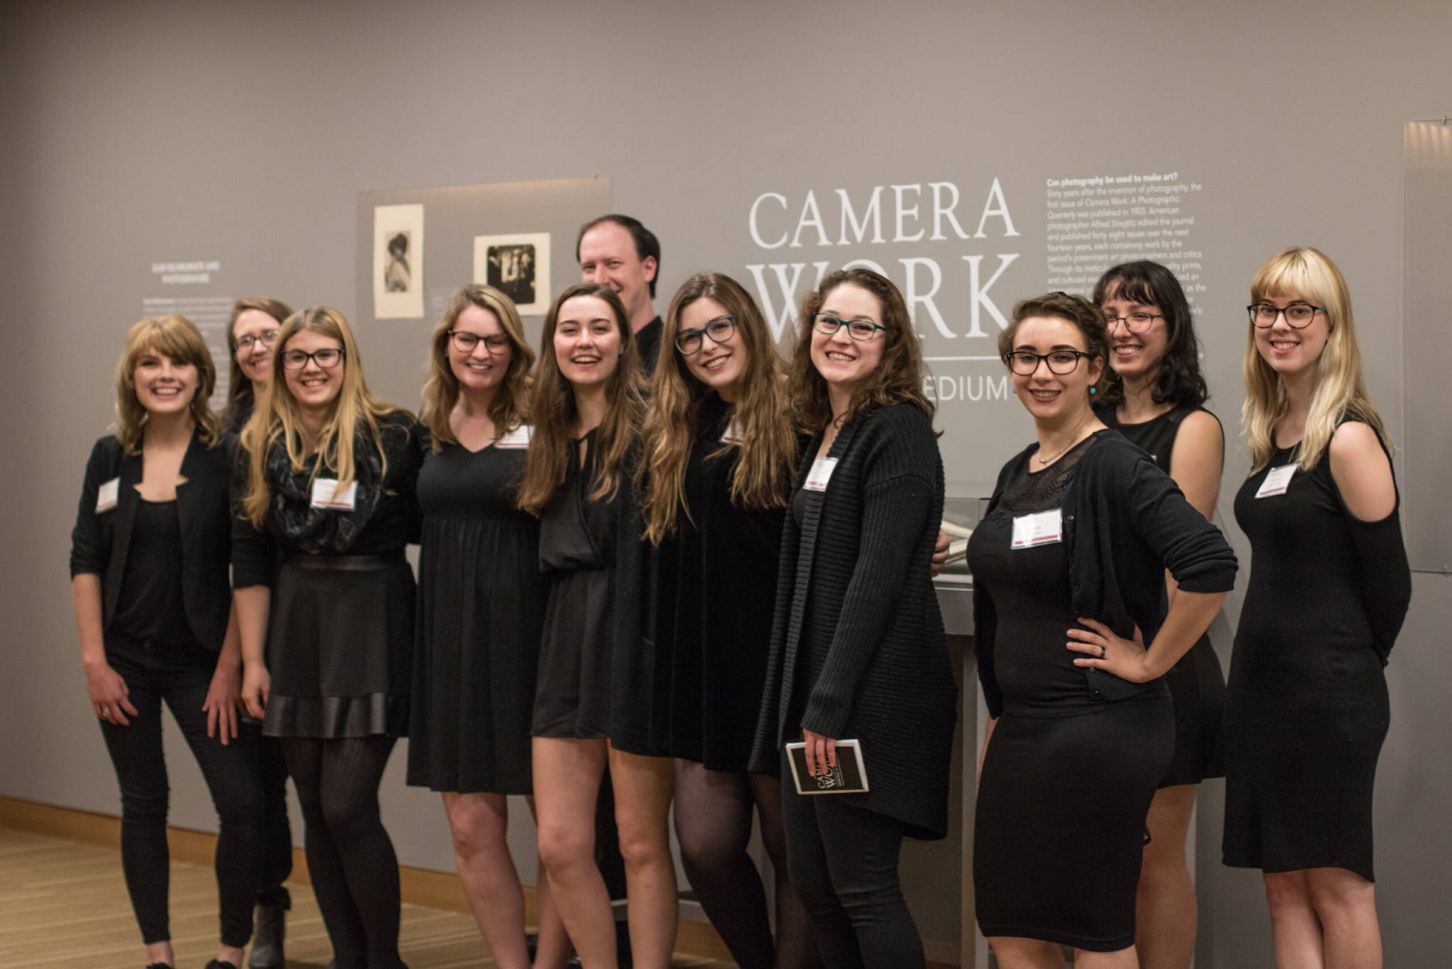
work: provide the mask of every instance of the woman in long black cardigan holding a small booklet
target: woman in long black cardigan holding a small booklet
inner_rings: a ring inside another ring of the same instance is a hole
[[[922,356],[883,276],[829,275],[802,308],[791,389],[816,436],[781,542],[777,615],[752,770],[806,741],[807,767],[860,741],[870,790],[783,789],[791,882],[829,966],[921,966],[902,898],[903,835],[947,832],[957,686],[929,569],[942,461]]]

